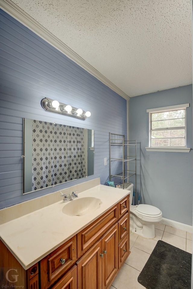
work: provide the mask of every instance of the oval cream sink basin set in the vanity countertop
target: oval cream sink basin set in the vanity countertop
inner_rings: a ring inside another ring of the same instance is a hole
[[[62,209],[68,216],[83,216],[100,208],[102,201],[95,197],[76,198],[69,201]]]

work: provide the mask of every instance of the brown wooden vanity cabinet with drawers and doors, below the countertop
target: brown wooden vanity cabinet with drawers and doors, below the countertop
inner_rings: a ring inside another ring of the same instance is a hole
[[[1,285],[13,284],[10,268],[26,289],[109,289],[130,253],[128,204],[127,196],[27,270],[0,240]]]

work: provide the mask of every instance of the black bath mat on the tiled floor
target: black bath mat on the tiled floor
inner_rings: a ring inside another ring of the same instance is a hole
[[[147,289],[191,289],[192,254],[158,241],[138,282]]]

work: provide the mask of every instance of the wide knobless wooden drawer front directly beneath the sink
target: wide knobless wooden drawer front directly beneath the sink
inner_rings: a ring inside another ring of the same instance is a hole
[[[78,258],[81,257],[118,220],[117,205],[77,234]]]

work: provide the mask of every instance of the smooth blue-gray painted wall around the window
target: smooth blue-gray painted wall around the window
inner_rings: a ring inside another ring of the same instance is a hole
[[[146,109],[190,103],[187,108],[189,153],[146,152],[149,115]],[[129,139],[137,140],[137,193],[163,217],[192,225],[192,85],[159,91],[129,100]]]

